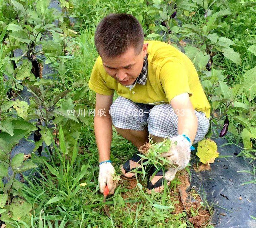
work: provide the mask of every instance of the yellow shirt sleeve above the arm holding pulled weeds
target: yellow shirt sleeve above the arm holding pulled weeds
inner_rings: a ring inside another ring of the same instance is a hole
[[[159,78],[169,103],[179,94],[186,92],[189,96],[193,94],[189,87],[188,71],[179,62],[164,63],[160,69]]]

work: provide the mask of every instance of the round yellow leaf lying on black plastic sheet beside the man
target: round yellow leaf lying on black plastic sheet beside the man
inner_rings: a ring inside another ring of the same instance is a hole
[[[203,164],[214,163],[216,157],[219,156],[216,143],[211,139],[203,139],[198,142],[196,155]]]

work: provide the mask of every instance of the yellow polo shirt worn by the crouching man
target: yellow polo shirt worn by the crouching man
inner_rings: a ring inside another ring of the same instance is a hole
[[[117,94],[133,102],[143,104],[170,103],[181,93],[189,93],[193,108],[210,117],[211,106],[204,94],[196,69],[191,60],[177,48],[161,41],[144,41],[148,45],[148,75],[145,85],[136,83],[129,89],[110,77],[101,57],[95,61],[89,80],[89,88],[96,93]]]

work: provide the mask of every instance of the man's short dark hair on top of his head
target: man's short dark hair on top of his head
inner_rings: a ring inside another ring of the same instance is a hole
[[[143,29],[139,21],[126,13],[112,13],[98,24],[94,43],[100,56],[116,57],[133,47],[136,54],[142,50]]]

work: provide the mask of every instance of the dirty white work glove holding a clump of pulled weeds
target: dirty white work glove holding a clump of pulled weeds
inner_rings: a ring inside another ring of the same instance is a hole
[[[174,165],[165,166],[168,171],[165,173],[164,178],[167,181],[173,180],[177,171],[184,169],[188,165],[191,153],[190,147],[192,146],[182,135],[172,137],[170,140],[172,145],[169,151],[161,153],[162,157],[165,157],[166,160]],[[173,144],[174,142],[177,142],[177,144]]]

